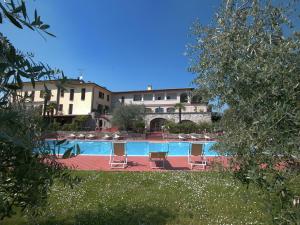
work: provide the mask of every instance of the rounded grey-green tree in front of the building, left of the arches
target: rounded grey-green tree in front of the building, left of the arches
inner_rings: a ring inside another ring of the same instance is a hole
[[[145,107],[143,105],[121,105],[114,109],[112,124],[121,130],[140,130],[144,122]]]

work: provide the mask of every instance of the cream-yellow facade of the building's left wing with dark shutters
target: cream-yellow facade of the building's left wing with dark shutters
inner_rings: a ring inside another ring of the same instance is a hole
[[[58,88],[55,81],[36,82],[33,88],[31,83],[24,83],[20,94],[22,96],[33,96],[31,104],[34,106],[43,106],[45,86],[51,91],[49,103],[53,102],[58,105],[57,115],[88,115],[96,111],[99,105],[103,109],[110,109],[111,92],[94,83],[85,83],[79,80],[71,80],[64,84],[64,88]],[[101,97],[100,97],[100,94]],[[109,96],[109,97],[107,97]],[[56,113],[56,112],[55,112]]]

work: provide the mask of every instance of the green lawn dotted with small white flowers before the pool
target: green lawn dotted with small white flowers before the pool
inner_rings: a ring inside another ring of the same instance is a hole
[[[53,186],[38,224],[271,224],[259,194],[225,173],[76,173],[82,182],[74,189]],[[27,223],[19,216],[4,221]]]

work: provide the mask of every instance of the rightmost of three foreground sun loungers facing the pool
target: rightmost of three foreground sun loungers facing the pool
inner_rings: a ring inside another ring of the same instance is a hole
[[[207,161],[203,152],[203,144],[191,143],[188,155],[188,163],[191,166],[191,170],[194,166],[202,166],[203,169],[205,169]]]

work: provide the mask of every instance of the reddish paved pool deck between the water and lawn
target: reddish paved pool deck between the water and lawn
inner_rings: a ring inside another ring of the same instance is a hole
[[[214,165],[221,164],[228,167],[227,157],[206,157],[208,165],[205,169],[201,166],[195,166],[193,171],[213,170]],[[165,169],[152,169],[150,167],[149,157],[147,156],[128,156],[128,165],[126,168],[110,168],[109,156],[86,156],[78,155],[70,159],[59,159],[61,163],[74,170],[98,170],[98,171],[170,171],[186,170],[191,171],[187,162],[187,156],[169,156],[165,162]]]

